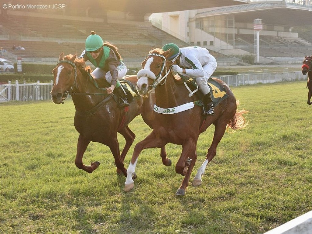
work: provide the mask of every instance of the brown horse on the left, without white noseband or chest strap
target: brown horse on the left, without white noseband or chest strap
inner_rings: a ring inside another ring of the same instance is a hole
[[[100,162],[92,162],[87,166],[82,162],[88,144],[90,141],[94,141],[110,148],[115,158],[117,173],[123,173],[124,176],[127,176],[124,158],[135,138],[135,134],[129,129],[128,124],[141,113],[151,116],[153,106],[148,106],[149,98],[143,100],[142,97],[138,96],[134,98],[129,107],[118,108],[117,103],[112,98],[113,95],[108,95],[104,89],[99,89],[95,85],[95,81],[88,73],[89,69],[85,66],[83,59],[76,59],[76,55],[64,57],[62,52],[56,68],[53,69],[54,82],[51,99],[54,103],[60,104],[69,94],[72,96],[76,108],[74,125],[79,133],[76,166],[92,173],[100,165]],[[134,83],[137,78],[136,76],[129,77],[129,80],[133,80]],[[150,125],[149,121],[152,121],[152,118],[146,117],[145,120]],[[123,135],[126,141],[121,155],[117,132]],[[167,157],[165,148],[162,148],[161,156],[162,158]]]

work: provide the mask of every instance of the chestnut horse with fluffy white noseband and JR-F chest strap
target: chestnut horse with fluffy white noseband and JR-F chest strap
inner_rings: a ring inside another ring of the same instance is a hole
[[[204,116],[202,107],[194,106],[191,109],[178,113],[175,112],[183,104],[191,105],[199,100],[199,95],[189,97],[189,91],[185,85],[170,71],[169,51],[154,49],[149,52],[147,58],[142,62],[143,69],[138,72],[137,87],[139,94],[145,94],[151,87],[155,87],[155,110],[165,110],[163,113],[155,113],[152,128],[154,129],[144,140],[136,144],[131,162],[128,168],[128,176],[125,182],[125,191],[134,187],[132,175],[135,174],[135,167],[140,152],[143,149],[160,148],[167,143],[182,145],[181,156],[176,163],[175,171],[184,175],[184,179],[176,195],[184,195],[188,181],[197,159],[196,146],[199,134],[204,132],[211,124],[215,125],[215,132],[212,144],[208,149],[206,160],[198,169],[193,180],[193,185],[201,184],[201,176],[204,170],[216,155],[217,145],[227,127],[239,129],[246,126],[245,118],[242,116],[246,111],[238,111],[235,96],[230,88],[221,80],[214,79],[226,90],[228,98],[224,99],[214,109],[213,116]],[[191,104],[190,104],[191,103]],[[184,105],[183,105],[184,106]],[[190,160],[191,159],[191,160]]]

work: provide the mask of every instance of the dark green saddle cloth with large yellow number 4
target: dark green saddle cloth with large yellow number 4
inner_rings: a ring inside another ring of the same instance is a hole
[[[181,74],[180,74],[180,77],[188,85],[188,87],[190,88],[191,91],[194,92],[194,90],[196,90],[196,89],[198,90],[198,86],[195,83],[196,79],[182,77]],[[208,83],[208,86],[210,88],[210,95],[211,95],[211,99],[213,102],[213,106],[216,107],[217,105],[219,105],[220,102],[227,99],[227,97],[229,95],[227,95],[225,88],[222,85],[220,85],[217,81],[213,80],[211,77],[209,77],[207,83]],[[199,105],[199,106],[203,106],[202,97],[204,95],[202,94],[202,92],[199,92],[198,95],[200,97],[200,100],[198,100],[194,104]]]

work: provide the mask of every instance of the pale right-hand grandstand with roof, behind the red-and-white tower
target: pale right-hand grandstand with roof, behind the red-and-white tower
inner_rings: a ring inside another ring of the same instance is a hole
[[[312,51],[312,27],[308,20],[311,11],[311,0],[255,1],[245,5],[199,9],[195,13],[165,12],[162,14],[162,28],[174,31],[178,23],[172,22],[188,18],[189,27],[179,25],[182,30],[175,33],[183,37],[189,34],[190,44],[232,56],[254,55],[256,34],[253,21],[261,19],[261,61],[297,63],[307,51]]]

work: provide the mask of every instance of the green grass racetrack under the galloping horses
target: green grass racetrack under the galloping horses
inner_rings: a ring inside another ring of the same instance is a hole
[[[76,168],[75,108],[51,101],[0,105],[0,233],[264,233],[312,210],[312,107],[305,81],[233,87],[248,127],[226,133],[200,187],[174,194],[182,176],[180,145],[142,151],[134,189],[124,192],[107,146],[91,143]],[[129,125],[134,144],[151,131],[140,117]],[[197,145],[191,179],[205,159],[213,126]],[[119,135],[121,146],[124,141]],[[131,158],[125,159],[128,167]]]

